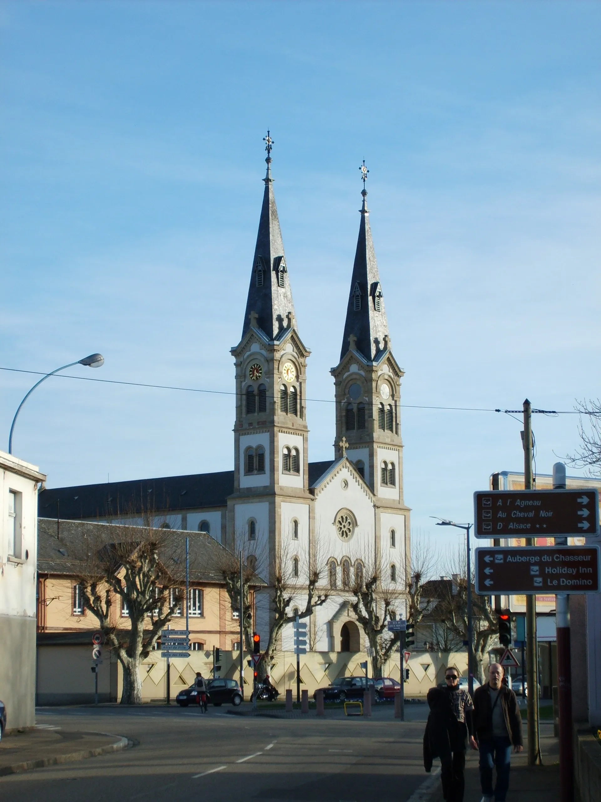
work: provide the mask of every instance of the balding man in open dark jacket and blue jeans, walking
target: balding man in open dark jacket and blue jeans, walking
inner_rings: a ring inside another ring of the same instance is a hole
[[[488,670],[488,682],[474,691],[474,730],[480,750],[482,802],[505,802],[509,788],[511,747],[522,751],[522,716],[514,691],[502,683],[498,662]],[[493,788],[493,767],[497,782]]]

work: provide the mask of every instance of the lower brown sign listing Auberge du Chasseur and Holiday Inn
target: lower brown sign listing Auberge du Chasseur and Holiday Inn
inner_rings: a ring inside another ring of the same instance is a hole
[[[599,546],[476,549],[476,593],[599,593]]]

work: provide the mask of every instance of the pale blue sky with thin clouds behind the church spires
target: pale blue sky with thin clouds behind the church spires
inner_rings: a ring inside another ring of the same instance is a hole
[[[520,426],[409,405],[601,395],[600,37],[587,2],[3,3],[0,366],[98,350],[70,372],[232,391],[270,128],[308,395],[333,399],[365,158],[405,500],[442,537],[431,515],[521,467]],[[0,371],[6,441],[34,380]],[[333,414],[309,404],[309,459]],[[49,486],[225,470],[232,423],[228,395],[50,379],[14,452]],[[536,416],[539,472],[576,424]]]

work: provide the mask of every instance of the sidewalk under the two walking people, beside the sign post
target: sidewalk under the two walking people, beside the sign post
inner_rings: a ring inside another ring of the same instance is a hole
[[[526,723],[524,723],[524,731]],[[558,802],[559,800],[559,741],[553,737],[553,724],[541,722],[540,749],[542,766],[528,766],[526,742],[521,754],[511,754],[511,774],[507,802]],[[439,760],[435,764],[440,764]],[[466,795],[464,802],[480,802],[478,752],[468,751],[466,759]],[[440,780],[431,802],[442,802]]]

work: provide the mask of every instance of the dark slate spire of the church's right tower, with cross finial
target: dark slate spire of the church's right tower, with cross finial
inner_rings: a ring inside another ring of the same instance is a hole
[[[359,224],[359,237],[340,358],[342,359],[349,352],[350,338],[353,338],[353,350],[359,351],[368,362],[373,362],[378,353],[389,347],[390,338],[380,276],[377,272],[376,253],[373,250],[372,233],[369,228],[369,209],[367,208],[367,190],[365,189],[369,170],[365,167],[365,160],[359,169],[361,170],[361,180],[363,180],[361,223]]]

